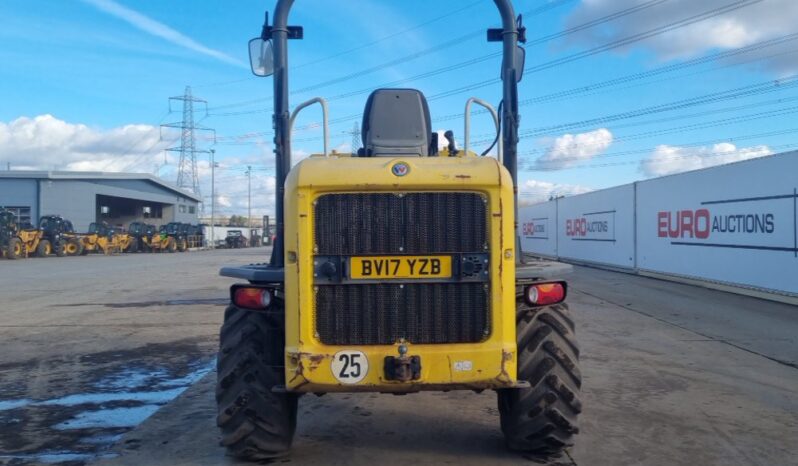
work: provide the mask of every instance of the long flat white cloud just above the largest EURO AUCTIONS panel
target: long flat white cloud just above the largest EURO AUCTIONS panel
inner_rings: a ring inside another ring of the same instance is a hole
[[[663,176],[764,157],[772,153],[765,145],[738,149],[734,144],[725,142],[711,147],[661,145],[640,162],[640,170],[647,176]]]

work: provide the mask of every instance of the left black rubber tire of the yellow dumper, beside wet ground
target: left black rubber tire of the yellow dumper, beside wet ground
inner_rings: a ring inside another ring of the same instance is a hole
[[[297,395],[272,391],[285,385],[282,313],[229,306],[219,346],[216,424],[222,444],[231,455],[250,461],[287,455],[296,430]]]

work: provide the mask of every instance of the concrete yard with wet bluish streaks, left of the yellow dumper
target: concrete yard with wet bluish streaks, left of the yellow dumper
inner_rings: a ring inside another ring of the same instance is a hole
[[[214,366],[222,264],[268,249],[0,260],[0,464],[83,464]]]

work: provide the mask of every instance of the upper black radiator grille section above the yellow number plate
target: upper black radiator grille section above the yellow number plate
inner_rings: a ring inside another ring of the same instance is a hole
[[[315,207],[316,254],[484,252],[487,213],[477,193],[341,193]]]

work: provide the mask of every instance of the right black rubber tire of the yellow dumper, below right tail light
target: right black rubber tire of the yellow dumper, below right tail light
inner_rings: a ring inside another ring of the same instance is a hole
[[[568,306],[519,307],[518,379],[530,388],[498,390],[501,427],[511,450],[554,455],[573,445],[582,375]]]

